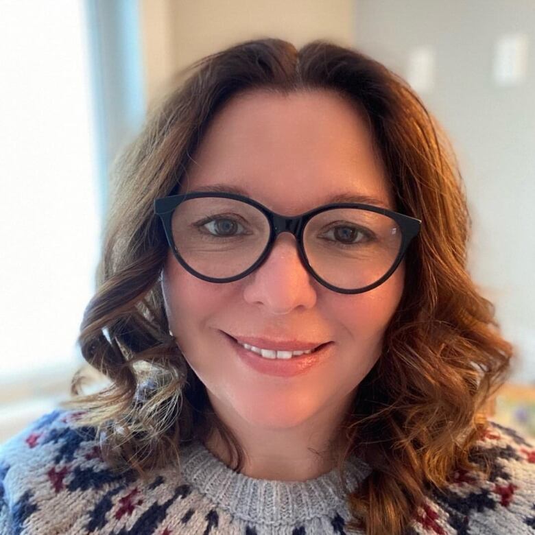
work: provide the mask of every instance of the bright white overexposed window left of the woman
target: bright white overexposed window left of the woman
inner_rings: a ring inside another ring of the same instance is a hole
[[[0,375],[71,369],[99,198],[82,1],[0,2]]]

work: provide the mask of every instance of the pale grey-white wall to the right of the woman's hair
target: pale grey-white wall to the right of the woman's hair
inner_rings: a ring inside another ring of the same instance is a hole
[[[357,0],[354,34],[355,47],[421,88],[453,139],[473,218],[471,273],[517,346],[511,380],[535,383],[534,1]],[[517,85],[493,75],[509,34],[527,43]],[[429,80],[411,74],[418,49]]]

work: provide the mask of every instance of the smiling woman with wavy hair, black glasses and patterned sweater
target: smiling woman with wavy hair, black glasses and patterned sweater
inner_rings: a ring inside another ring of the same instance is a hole
[[[3,447],[5,532],[534,532],[534,444],[484,412],[512,346],[403,80],[332,43],[241,43],[115,178],[80,333],[110,385],[75,377],[76,410]]]

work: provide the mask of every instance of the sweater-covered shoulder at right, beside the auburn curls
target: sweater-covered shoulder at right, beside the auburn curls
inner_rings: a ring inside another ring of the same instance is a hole
[[[479,466],[482,457],[489,476],[455,471],[443,492],[433,492],[419,523],[444,533],[534,535],[535,441],[490,420],[470,453]]]

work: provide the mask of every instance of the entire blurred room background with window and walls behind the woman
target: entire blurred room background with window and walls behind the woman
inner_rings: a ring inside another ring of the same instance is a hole
[[[178,70],[266,36],[368,53],[447,130],[469,268],[518,354],[488,411],[535,436],[533,0],[0,0],[0,442],[83,363],[113,159]]]

